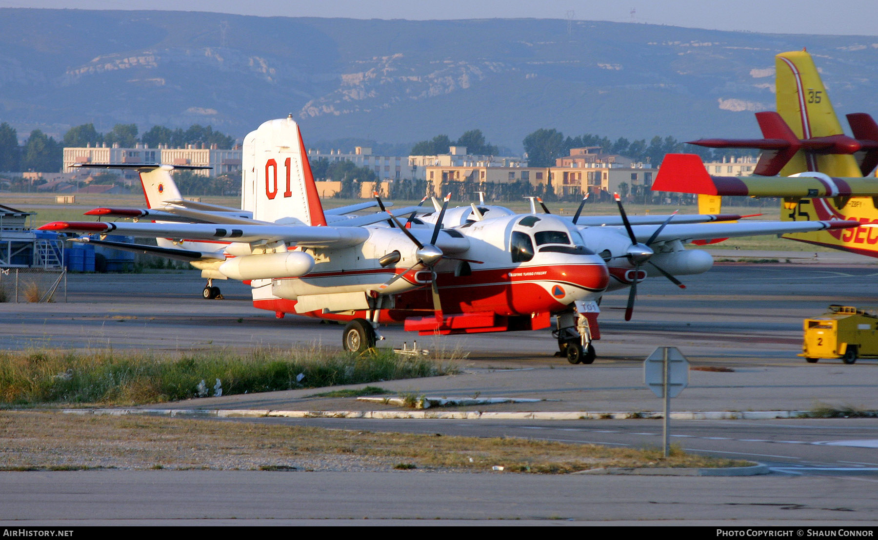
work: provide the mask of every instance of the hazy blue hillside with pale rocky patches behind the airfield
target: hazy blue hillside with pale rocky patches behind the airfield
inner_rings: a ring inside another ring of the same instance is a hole
[[[807,46],[839,113],[878,113],[878,37],[565,20],[260,18],[0,9],[0,121],[237,137],[292,113],[306,139],[409,142],[540,127],[611,139],[755,136],[774,54]]]

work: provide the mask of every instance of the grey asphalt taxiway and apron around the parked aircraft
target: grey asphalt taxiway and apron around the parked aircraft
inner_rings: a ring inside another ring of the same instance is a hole
[[[659,345],[677,346],[695,369],[675,411],[878,409],[878,362],[821,360],[801,350],[802,319],[831,303],[858,307],[878,297],[878,267],[847,264],[717,265],[683,279],[639,287],[635,318],[623,321],[626,292],[601,304],[598,359],[571,366],[552,356],[548,330],[418,338],[382,329],[386,345],[443,349],[463,373],[385,381],[382,387],[441,396],[539,397],[527,405],[462,411],[660,410],[641,364]],[[338,346],[342,327],[254,309],[248,290],[222,283],[225,300],[200,298],[198,274],[71,274],[68,302],[0,304],[0,347],[152,349]],[[317,390],[224,396],[151,408],[392,409],[353,399],[308,397]],[[219,421],[219,420],[218,420]],[[244,419],[342,429],[412,430],[533,437],[614,445],[659,444],[654,420]],[[536,477],[509,474],[258,473],[100,471],[0,473],[0,520],[106,522],[159,518],[294,520],[327,518],[550,519],[584,522],[815,524],[874,522],[878,514],[878,421],[674,420],[684,448],[752,458],[773,473],[746,479]],[[234,486],[234,489],[229,487]],[[670,520],[670,521],[665,521]],[[279,523],[280,521],[272,521]],[[243,521],[241,522],[243,523]]]

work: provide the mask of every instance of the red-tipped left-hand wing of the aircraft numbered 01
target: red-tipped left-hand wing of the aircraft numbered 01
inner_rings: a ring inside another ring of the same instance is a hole
[[[124,234],[140,238],[184,238],[227,242],[283,241],[303,247],[350,247],[362,244],[369,231],[360,227],[310,227],[262,224],[175,224],[56,221],[41,231]]]

